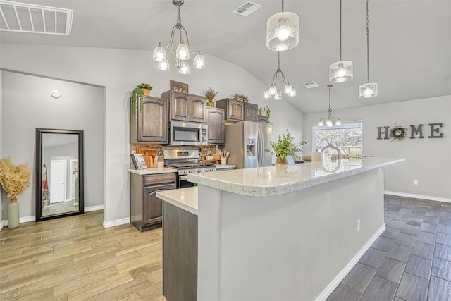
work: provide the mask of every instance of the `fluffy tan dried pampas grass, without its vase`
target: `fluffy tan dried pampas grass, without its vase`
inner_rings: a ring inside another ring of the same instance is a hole
[[[30,184],[30,168],[27,164],[14,165],[9,158],[0,159],[0,184],[8,192],[11,203]]]

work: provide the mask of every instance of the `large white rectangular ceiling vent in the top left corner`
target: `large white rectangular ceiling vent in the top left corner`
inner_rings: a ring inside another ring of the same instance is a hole
[[[70,35],[73,10],[0,0],[0,30]]]

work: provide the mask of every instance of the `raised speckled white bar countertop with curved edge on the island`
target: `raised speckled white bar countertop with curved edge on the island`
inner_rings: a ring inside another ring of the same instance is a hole
[[[343,159],[261,168],[235,169],[221,173],[196,173],[188,180],[200,185],[252,197],[273,197],[404,161],[372,157]]]

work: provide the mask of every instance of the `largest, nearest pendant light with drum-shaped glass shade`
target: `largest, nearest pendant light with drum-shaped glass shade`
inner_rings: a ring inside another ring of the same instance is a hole
[[[299,43],[299,17],[283,11],[271,16],[266,22],[266,47],[274,51],[292,49]]]

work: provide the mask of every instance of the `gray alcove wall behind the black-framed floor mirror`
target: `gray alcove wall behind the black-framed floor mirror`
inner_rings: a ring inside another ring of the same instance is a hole
[[[32,168],[32,184],[18,198],[20,217],[35,215],[35,128],[84,131],[85,207],[104,204],[104,88],[4,71],[2,94],[2,154]]]

